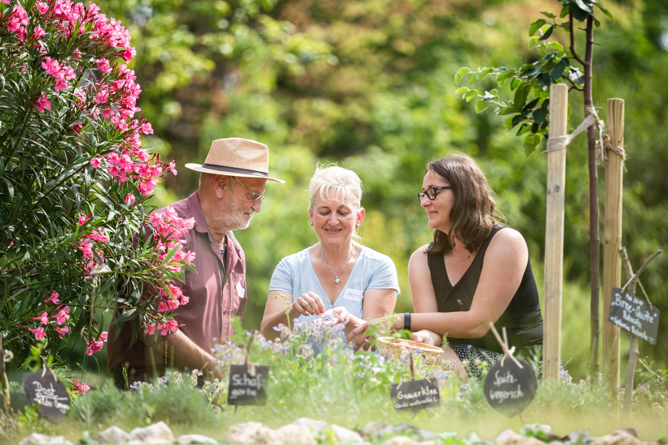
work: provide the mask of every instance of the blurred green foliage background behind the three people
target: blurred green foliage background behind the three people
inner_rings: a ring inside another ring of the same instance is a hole
[[[251,227],[238,231],[247,259],[244,326],[259,327],[269,279],[284,256],[317,241],[307,219],[308,179],[319,161],[337,161],[363,181],[367,217],[363,244],[393,258],[410,310],[407,259],[430,240],[415,193],[428,159],[451,151],[474,156],[489,176],[506,224],[526,238],[542,294],[546,157],[524,155],[522,139],[504,117],[477,115],[454,95],[462,66],[519,66],[539,58],[527,48],[538,11],[558,13],[548,0],[102,0],[102,12],[130,29],[141,83],[138,104],[156,130],[145,146],[166,160],[202,162],[210,141],[246,137],[270,147],[268,199]],[[638,268],[668,247],[668,5],[664,0],[605,1],[595,30],[594,101],[626,101],[624,236]],[[583,34],[583,33],[578,33]],[[584,51],[583,36],[576,47]],[[551,41],[566,46],[566,33]],[[481,85],[482,86],[482,85]],[[488,89],[495,87],[489,79]],[[508,87],[500,89],[502,99]],[[582,118],[572,91],[570,120]],[[603,207],[603,167],[601,206]],[[586,138],[568,149],[564,243],[562,359],[576,378],[589,368],[589,230]],[[158,189],[166,205],[197,187],[197,173]],[[601,209],[603,211],[603,208]],[[603,221],[603,213],[601,215]],[[603,224],[603,223],[601,223]],[[603,228],[601,227],[601,230]],[[603,232],[602,232],[603,233]],[[603,236],[601,236],[603,242]],[[603,252],[603,248],[601,249]],[[665,366],[668,295],[660,256],[643,275],[663,311],[659,342],[641,344]],[[627,338],[623,334],[623,354]]]

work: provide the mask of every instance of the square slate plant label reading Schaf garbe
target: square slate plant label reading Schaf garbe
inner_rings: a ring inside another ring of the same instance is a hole
[[[230,366],[230,386],[227,389],[228,405],[266,405],[269,366],[255,365],[255,375],[246,365]]]

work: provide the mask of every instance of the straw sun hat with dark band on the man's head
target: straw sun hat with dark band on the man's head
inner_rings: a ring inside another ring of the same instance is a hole
[[[269,176],[269,148],[263,143],[228,137],[211,143],[204,163],[187,163],[186,168],[214,175],[259,177],[285,183]]]

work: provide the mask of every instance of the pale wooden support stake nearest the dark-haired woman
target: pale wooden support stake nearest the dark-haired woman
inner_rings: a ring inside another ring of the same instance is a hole
[[[550,137],[566,135],[568,87],[550,87]],[[566,149],[547,153],[545,217],[545,377],[559,380],[561,363],[561,292],[564,274],[564,197]]]

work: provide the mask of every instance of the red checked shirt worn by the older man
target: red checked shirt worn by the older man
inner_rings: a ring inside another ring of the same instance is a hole
[[[226,258],[223,258],[220,247],[212,240],[202,215],[202,207],[197,191],[186,199],[172,204],[179,217],[194,217],[194,228],[184,237],[186,250],[195,252],[194,268],[197,274],[186,270],[185,282],[178,280],[183,294],[190,298],[188,304],[179,306],[174,320],[184,324],[179,329],[197,346],[210,352],[212,346],[226,342],[232,334],[230,318],[243,318],[246,310],[246,258],[241,246],[231,232],[226,239]],[[162,209],[157,210],[162,211]],[[112,324],[109,329],[107,344],[107,361],[110,372],[124,365],[130,368],[151,367],[149,349],[142,342],[143,330],[138,326],[138,338],[130,346],[132,340],[132,323],[122,325],[116,338],[118,325]],[[136,323],[136,321],[134,321]],[[116,340],[114,340],[116,339]],[[158,366],[164,358],[156,358]]]

